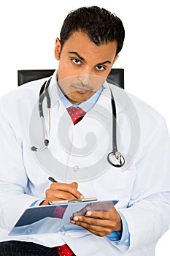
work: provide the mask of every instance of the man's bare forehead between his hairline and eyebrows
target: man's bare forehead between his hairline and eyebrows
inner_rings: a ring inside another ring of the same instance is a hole
[[[84,58],[93,56],[93,58],[101,59],[102,61],[106,59],[112,61],[115,58],[116,50],[116,41],[96,45],[87,34],[76,31],[64,42],[62,51],[63,53],[77,52]]]

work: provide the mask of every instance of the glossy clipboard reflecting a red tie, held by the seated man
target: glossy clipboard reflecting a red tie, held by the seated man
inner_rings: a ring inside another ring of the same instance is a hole
[[[117,200],[69,200],[68,203],[56,203],[48,206],[26,208],[18,222],[9,232],[9,236],[25,236],[41,233],[75,232],[84,230],[73,225],[70,219],[77,215],[85,215],[87,211],[109,211]],[[70,202],[71,201],[71,202]]]

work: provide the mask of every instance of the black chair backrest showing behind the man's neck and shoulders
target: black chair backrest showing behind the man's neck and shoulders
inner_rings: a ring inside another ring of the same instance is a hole
[[[55,69],[18,70],[18,86],[33,80],[50,77],[54,71]],[[124,89],[124,69],[111,69],[107,81]]]

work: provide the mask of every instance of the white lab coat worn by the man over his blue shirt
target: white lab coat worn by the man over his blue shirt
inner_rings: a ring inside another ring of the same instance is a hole
[[[53,75],[49,149],[33,152],[31,146],[43,146],[38,98],[44,80],[1,97],[0,241],[14,240],[8,236],[9,230],[25,208],[45,198],[45,190],[50,187],[47,178],[53,175],[58,181],[77,180],[85,197],[119,200],[115,207],[128,223],[129,248],[86,230],[29,234],[15,240],[45,246],[67,243],[77,256],[155,255],[155,244],[170,222],[170,143],[164,118],[141,100],[106,83],[98,104],[73,126],[58,99]],[[107,162],[107,154],[112,151],[109,87],[117,107],[118,148],[126,159],[125,167],[120,168]],[[47,128],[45,101],[43,105]],[[92,132],[89,138],[85,137],[88,132]]]

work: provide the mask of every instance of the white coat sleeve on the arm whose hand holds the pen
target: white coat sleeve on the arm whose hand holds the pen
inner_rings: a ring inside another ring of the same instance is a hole
[[[26,195],[28,177],[23,164],[22,139],[15,134],[0,102],[0,227],[12,228],[24,209],[35,200]]]

